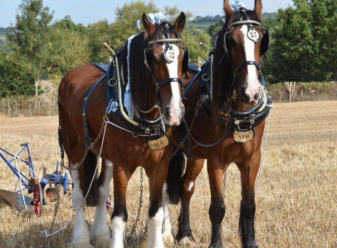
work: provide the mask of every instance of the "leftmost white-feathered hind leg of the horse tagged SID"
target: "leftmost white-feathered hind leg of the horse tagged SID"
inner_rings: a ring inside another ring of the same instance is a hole
[[[76,167],[78,164],[73,164],[69,161],[70,168]],[[78,170],[70,171],[71,179],[73,182],[72,188],[72,201],[75,206],[76,212],[75,226],[71,237],[70,247],[76,248],[93,248],[90,244],[90,233],[88,231],[87,223],[84,217],[83,201],[84,196],[80,185],[83,184],[83,166]]]

